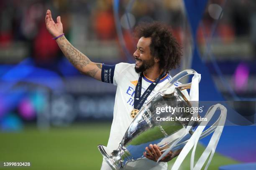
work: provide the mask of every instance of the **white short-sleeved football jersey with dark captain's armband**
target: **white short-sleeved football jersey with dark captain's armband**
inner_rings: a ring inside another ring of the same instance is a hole
[[[133,118],[131,117],[131,111],[134,107],[135,87],[139,78],[139,74],[135,72],[134,67],[135,64],[123,62],[112,66],[102,65],[102,81],[117,85],[113,122],[111,125],[110,136],[106,150],[108,154],[118,148],[126,130],[133,121]],[[171,78],[172,77],[169,74],[163,77],[156,85],[154,90],[150,93],[146,102],[150,100],[151,97],[155,95]],[[150,80],[146,76],[143,76],[141,95],[153,81],[154,80]],[[179,84],[180,83],[178,82],[175,85],[177,86]],[[183,90],[182,92],[187,97],[187,99],[189,99],[187,91]],[[101,170],[111,170],[104,159]],[[156,163],[153,160],[143,158],[141,160],[128,163],[124,170],[167,170],[167,163]]]

